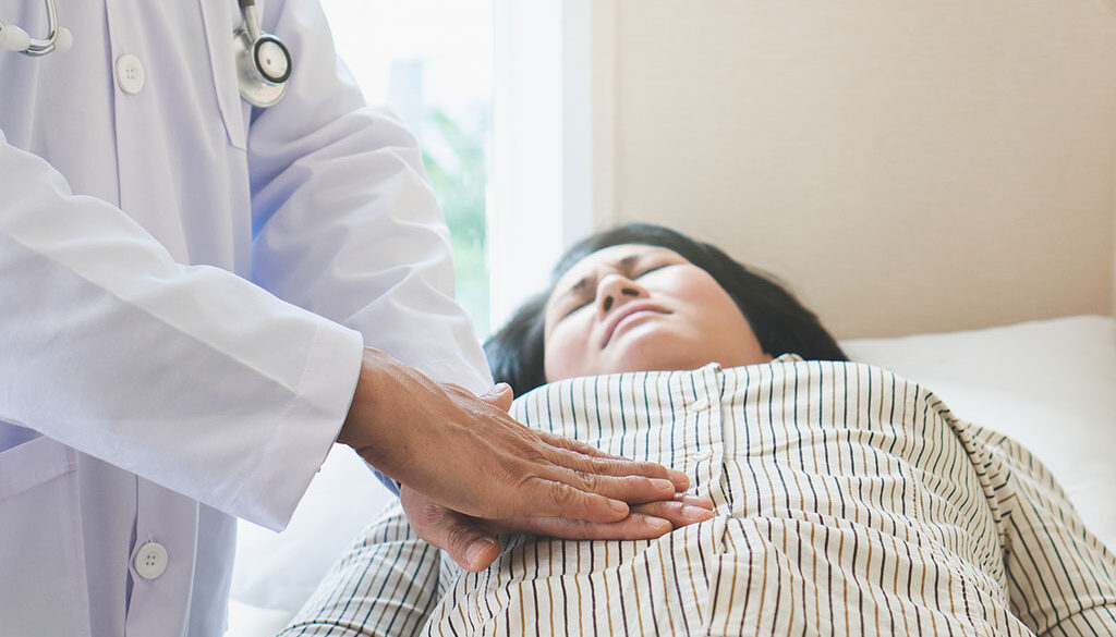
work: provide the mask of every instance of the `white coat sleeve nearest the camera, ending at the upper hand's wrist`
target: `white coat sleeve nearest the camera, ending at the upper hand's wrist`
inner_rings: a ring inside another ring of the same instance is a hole
[[[2,132],[0,185],[0,421],[285,525],[348,411],[359,335],[174,262]]]

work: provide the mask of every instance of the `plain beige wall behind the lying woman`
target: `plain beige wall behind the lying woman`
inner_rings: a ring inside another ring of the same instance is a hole
[[[841,337],[1116,309],[1116,12],[597,4],[596,223],[776,272]]]

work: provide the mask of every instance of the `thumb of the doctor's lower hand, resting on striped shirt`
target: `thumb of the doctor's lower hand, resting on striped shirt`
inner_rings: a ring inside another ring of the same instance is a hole
[[[446,509],[410,489],[400,491],[400,503],[415,533],[450,553],[469,572],[487,569],[500,554],[496,535],[468,515]]]

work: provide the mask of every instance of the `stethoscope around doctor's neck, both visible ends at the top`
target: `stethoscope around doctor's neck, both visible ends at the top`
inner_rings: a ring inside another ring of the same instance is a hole
[[[256,0],[237,2],[244,20],[244,25],[232,32],[240,96],[254,106],[272,106],[287,93],[287,80],[290,79],[294,66],[290,51],[282,40],[260,29]],[[44,0],[44,4],[47,8],[49,29],[46,39],[32,38],[16,25],[7,25],[0,20],[0,48],[31,57],[69,49],[74,45],[74,36],[69,29],[58,26],[57,0]]]

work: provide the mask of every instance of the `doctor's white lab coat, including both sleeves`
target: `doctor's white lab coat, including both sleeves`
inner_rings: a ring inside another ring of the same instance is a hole
[[[73,50],[0,54],[0,634],[219,636],[231,515],[286,524],[363,344],[490,379],[420,153],[316,2],[263,7],[295,59],[264,110],[233,0],[59,4]],[[46,32],[40,0],[0,18]]]

